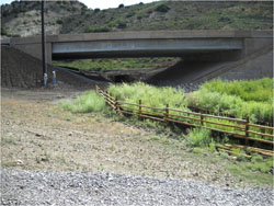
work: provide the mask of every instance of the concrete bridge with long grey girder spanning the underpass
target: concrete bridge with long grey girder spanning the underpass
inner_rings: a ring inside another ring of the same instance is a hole
[[[42,58],[41,36],[2,41]],[[141,31],[46,36],[46,59],[176,56],[238,60],[273,45],[272,31]]]

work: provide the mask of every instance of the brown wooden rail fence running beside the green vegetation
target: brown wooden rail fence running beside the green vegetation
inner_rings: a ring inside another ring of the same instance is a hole
[[[203,114],[192,111],[171,108],[169,107],[169,104],[167,104],[165,107],[160,108],[142,105],[141,100],[139,100],[138,104],[128,103],[119,101],[117,98],[113,98],[106,91],[101,90],[98,85],[96,92],[104,98],[106,104],[112,107],[117,114],[135,115],[140,118],[149,118],[165,123],[175,123],[187,127],[206,128],[213,131],[227,134],[230,137],[243,139],[247,146],[250,144],[250,141],[260,142],[261,145],[265,145],[271,149],[265,150],[253,147],[243,147],[241,149],[254,151],[264,156],[274,157],[274,152],[272,151],[274,145],[274,127],[252,124],[249,122],[249,118],[239,119],[210,114]],[[232,147],[237,148],[235,146]]]

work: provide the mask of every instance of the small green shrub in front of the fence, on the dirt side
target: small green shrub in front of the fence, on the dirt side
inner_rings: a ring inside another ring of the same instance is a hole
[[[210,142],[210,130],[203,128],[189,129],[189,134],[186,136],[186,145],[191,147],[209,147]]]

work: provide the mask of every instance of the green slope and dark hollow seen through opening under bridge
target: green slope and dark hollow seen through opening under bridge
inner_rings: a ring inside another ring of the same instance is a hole
[[[102,78],[114,83],[144,81],[148,76],[180,61],[180,57],[62,59],[53,64],[71,72]]]

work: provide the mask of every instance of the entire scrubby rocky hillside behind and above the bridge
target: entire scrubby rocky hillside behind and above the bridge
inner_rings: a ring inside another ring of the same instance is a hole
[[[38,1],[1,7],[1,35],[30,36],[41,32]],[[273,3],[228,1],[160,1],[116,9],[88,9],[78,1],[45,5],[48,34],[140,30],[271,30]]]

